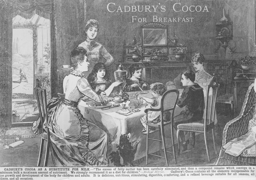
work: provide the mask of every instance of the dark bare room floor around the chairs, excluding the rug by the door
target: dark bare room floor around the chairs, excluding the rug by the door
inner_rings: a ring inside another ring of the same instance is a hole
[[[216,131],[216,144],[217,154],[219,154],[221,141],[222,141],[222,130],[224,125],[231,118],[224,115],[218,115],[218,125],[215,126]],[[8,145],[15,140],[12,139],[0,139],[0,167],[3,166],[36,166],[40,138],[20,138],[24,141],[24,144],[4,150],[4,145]],[[180,153],[177,157],[177,164],[174,163],[173,155],[168,154],[169,166],[212,166],[217,160],[217,155],[214,153],[212,143],[212,133],[208,133],[208,145],[210,151],[211,161],[208,161],[207,153],[204,144],[204,135],[198,135],[196,137],[195,148],[191,147],[191,143],[188,145],[188,150]],[[177,152],[177,146],[175,146]],[[181,147],[182,150],[182,147]],[[159,153],[159,152],[157,152]],[[177,154],[177,153],[176,153]],[[163,153],[162,153],[163,155]],[[146,166],[145,157],[134,162],[134,166]],[[51,154],[49,156],[48,166],[53,166]],[[147,166],[166,166],[165,159],[155,156],[150,156],[148,159]]]

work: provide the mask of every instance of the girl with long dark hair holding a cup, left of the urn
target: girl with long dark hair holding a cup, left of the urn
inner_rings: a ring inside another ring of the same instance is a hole
[[[109,88],[111,82],[109,80],[108,71],[104,63],[96,63],[92,69],[92,72],[88,75],[87,81],[91,88],[97,93],[103,93]],[[113,89],[111,89],[112,91]]]

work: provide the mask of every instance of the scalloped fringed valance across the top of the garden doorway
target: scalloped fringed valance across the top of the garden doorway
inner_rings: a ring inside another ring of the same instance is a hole
[[[0,8],[5,19],[16,15],[30,19],[34,14],[50,19],[52,0],[0,0]]]

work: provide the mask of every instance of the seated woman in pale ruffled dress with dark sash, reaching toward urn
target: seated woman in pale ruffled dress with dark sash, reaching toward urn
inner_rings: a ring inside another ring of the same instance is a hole
[[[70,65],[74,70],[63,80],[64,94],[48,104],[52,160],[54,166],[100,166],[108,164],[107,133],[87,121],[77,108],[78,102],[106,103],[108,94],[96,94],[83,72],[88,70],[86,50],[77,47],[71,52]],[[112,87],[119,83],[111,84]]]

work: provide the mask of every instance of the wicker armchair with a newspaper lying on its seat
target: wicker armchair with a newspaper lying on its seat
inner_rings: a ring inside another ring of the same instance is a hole
[[[243,154],[240,156],[231,156],[225,153],[223,146],[227,144],[230,140],[240,137],[247,133],[248,123],[255,116],[255,103],[256,103],[256,93],[253,89],[253,83],[249,86],[247,93],[244,98],[244,103],[241,108],[239,115],[230,120],[223,129],[222,135],[222,145],[220,148],[219,157],[215,165],[256,165],[256,157],[252,154]]]

